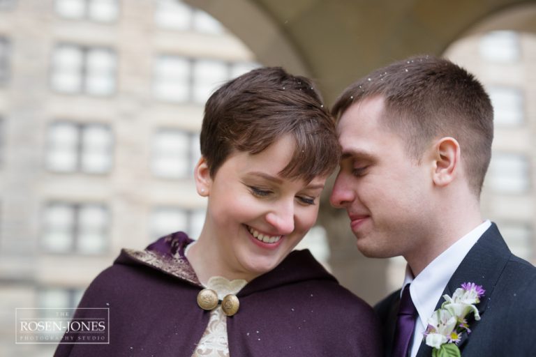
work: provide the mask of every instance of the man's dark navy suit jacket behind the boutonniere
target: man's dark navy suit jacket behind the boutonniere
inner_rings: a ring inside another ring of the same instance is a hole
[[[477,305],[481,319],[468,320],[470,335],[459,342],[461,355],[536,356],[536,268],[512,255],[493,223],[461,261],[442,295],[452,296],[463,282],[486,290]],[[440,298],[436,309],[444,301]],[[400,290],[375,306],[380,317],[385,356],[391,356]],[[432,355],[424,342],[417,357]]]

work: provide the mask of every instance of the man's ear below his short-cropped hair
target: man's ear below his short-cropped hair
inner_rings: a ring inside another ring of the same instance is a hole
[[[454,137],[442,137],[435,142],[433,151],[433,183],[438,186],[449,185],[460,169],[460,144]]]

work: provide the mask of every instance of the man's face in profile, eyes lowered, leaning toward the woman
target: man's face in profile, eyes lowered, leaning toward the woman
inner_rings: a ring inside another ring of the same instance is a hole
[[[330,197],[348,211],[357,248],[381,258],[414,254],[433,231],[431,160],[410,158],[402,137],[382,125],[383,109],[383,99],[373,97],[344,112],[337,128],[343,157]]]

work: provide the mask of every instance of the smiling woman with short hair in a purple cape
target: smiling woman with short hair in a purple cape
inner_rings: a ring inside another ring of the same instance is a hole
[[[80,303],[110,308],[110,343],[55,356],[379,356],[371,307],[292,252],[340,155],[311,82],[261,68],[224,84],[200,141],[197,241],[178,232],[123,250]]]

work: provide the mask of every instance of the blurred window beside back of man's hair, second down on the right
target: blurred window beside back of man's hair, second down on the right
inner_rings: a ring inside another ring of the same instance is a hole
[[[493,104],[493,121],[496,124],[515,126],[523,123],[525,112],[521,90],[506,86],[493,86],[489,89],[489,96]]]

